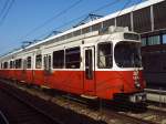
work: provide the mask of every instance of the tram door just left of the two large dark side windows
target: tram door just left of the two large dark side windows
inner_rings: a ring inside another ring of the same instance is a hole
[[[51,54],[44,55],[44,85],[49,86],[49,79],[51,76]]]

